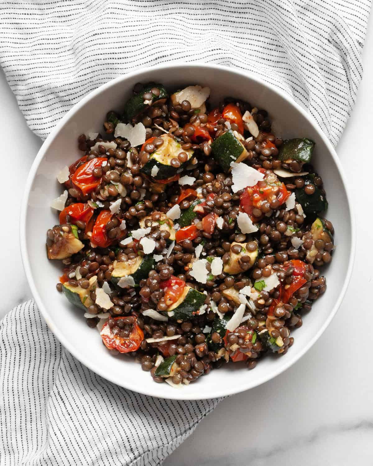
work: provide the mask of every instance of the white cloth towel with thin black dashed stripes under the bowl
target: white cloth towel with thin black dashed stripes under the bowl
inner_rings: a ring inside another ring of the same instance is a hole
[[[249,70],[338,142],[361,80],[371,0],[1,0],[0,64],[48,136],[84,95],[174,60]],[[117,387],[74,359],[34,302],[0,323],[0,465],[160,465],[219,399]]]

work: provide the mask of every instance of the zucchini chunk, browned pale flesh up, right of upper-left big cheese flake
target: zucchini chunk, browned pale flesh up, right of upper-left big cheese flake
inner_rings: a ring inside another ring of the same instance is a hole
[[[173,139],[168,134],[162,134],[160,136],[163,139],[163,144],[158,147],[158,149],[150,155],[149,160],[146,164],[140,169],[142,173],[148,176],[152,176],[153,167],[157,167],[158,171],[154,179],[167,179],[172,178],[178,173],[181,173],[186,165],[188,160],[193,156],[193,150],[184,150],[181,148],[181,144]],[[173,158],[178,158],[180,152],[185,152],[188,156],[186,162],[180,165],[179,168],[175,168],[171,165],[171,160]]]

